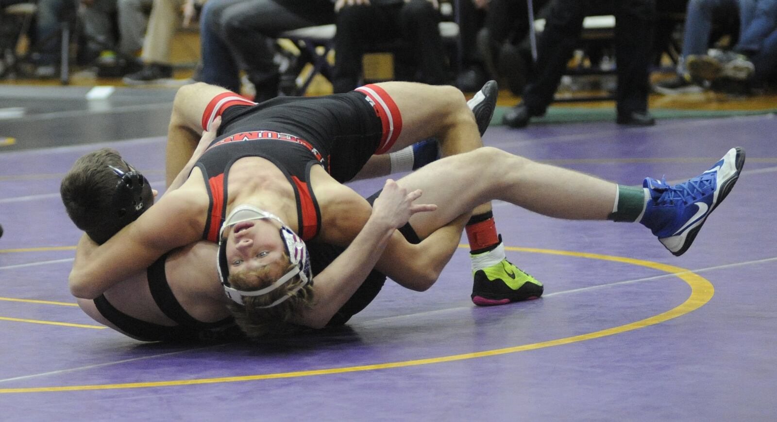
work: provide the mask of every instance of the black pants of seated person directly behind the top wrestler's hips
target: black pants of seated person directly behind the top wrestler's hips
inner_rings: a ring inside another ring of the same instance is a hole
[[[336,22],[334,92],[357,88],[362,56],[371,46],[398,39],[400,47],[395,54],[408,56],[405,63],[418,68],[419,81],[435,85],[448,82],[437,27],[440,13],[427,0],[345,6],[337,13]],[[411,73],[395,79],[416,80],[415,72]]]

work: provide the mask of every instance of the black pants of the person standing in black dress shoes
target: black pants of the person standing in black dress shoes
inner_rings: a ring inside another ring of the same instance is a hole
[[[603,12],[615,14],[618,113],[646,111],[655,9],[655,0],[553,0],[538,40],[535,71],[524,89],[523,101],[531,114],[543,114],[552,102],[580,40],[584,17]]]

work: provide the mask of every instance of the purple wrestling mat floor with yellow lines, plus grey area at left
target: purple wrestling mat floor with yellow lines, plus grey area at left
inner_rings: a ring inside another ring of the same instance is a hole
[[[388,282],[346,327],[180,346],[134,341],[75,306],[81,233],[58,193],[75,159],[102,146],[161,187],[173,95],[0,86],[0,419],[777,420],[773,98],[713,109],[685,97],[674,101],[696,106],[672,110],[656,98],[661,118],[646,128],[615,125],[611,102],[556,105],[483,138],[631,185],[685,180],[744,147],[737,186],[680,258],[639,224],[495,202],[507,256],[545,283],[542,299],[472,305],[464,237],[432,289]]]

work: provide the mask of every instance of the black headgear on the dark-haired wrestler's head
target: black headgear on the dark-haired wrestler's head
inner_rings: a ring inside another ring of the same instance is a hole
[[[97,227],[86,232],[97,244],[105,243],[124,226],[137,220],[149,206],[154,204],[154,194],[148,180],[127,161],[124,161],[124,164],[129,168],[128,171],[121,171],[120,168],[112,165],[108,166],[118,176],[116,189],[113,191],[113,201]]]

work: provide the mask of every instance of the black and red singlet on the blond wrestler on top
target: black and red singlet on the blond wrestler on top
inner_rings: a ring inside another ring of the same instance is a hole
[[[372,154],[391,149],[402,132],[399,108],[377,85],[260,104],[225,92],[207,105],[203,128],[217,116],[216,140],[197,161],[211,197],[203,237],[212,241],[225,219],[229,168],[240,158],[266,158],[286,175],[298,203],[298,234],[308,240],[319,233],[321,220],[309,183],[312,166],[320,164],[335,180],[347,182]]]

